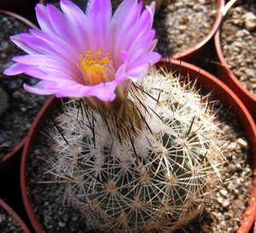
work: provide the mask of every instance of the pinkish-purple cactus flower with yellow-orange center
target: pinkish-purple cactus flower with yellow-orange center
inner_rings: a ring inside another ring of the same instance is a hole
[[[41,30],[11,37],[27,54],[14,57],[15,65],[4,74],[40,79],[33,87],[24,84],[33,94],[102,101],[113,101],[118,93],[125,96],[130,83],[160,60],[153,52],[154,3],[143,12],[142,7],[142,2],[125,0],[112,15],[110,0],[89,1],[85,14],[68,0],[61,0],[62,12],[38,4]]]

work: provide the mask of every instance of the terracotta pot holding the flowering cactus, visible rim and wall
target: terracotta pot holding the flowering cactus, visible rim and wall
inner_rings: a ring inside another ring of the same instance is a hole
[[[241,122],[242,128],[247,132],[247,139],[249,140],[250,145],[253,147],[253,169],[256,168],[256,127],[253,122],[253,118],[247,111],[247,108],[241,102],[241,99],[238,99],[236,94],[234,94],[230,88],[228,88],[223,82],[219,81],[217,77],[213,77],[207,71],[203,71],[195,65],[190,65],[183,61],[179,60],[171,60],[168,61],[160,61],[158,63],[159,66],[166,66],[168,69],[172,71],[180,72],[183,76],[187,76],[189,74],[189,79],[195,80],[197,79],[198,85],[201,85],[207,91],[212,91],[218,99],[223,101],[224,105],[231,106],[232,111],[236,113],[239,121]],[[21,158],[21,168],[20,168],[20,185],[23,196],[23,202],[25,203],[26,212],[31,220],[32,226],[34,227],[36,232],[43,232],[43,226],[38,221],[36,213],[32,208],[31,196],[27,192],[26,186],[28,184],[27,180],[27,162],[30,156],[30,150],[34,144],[34,139],[37,137],[38,132],[40,131],[40,127],[42,127],[44,120],[52,114],[53,109],[57,106],[60,106],[61,100],[51,98],[44,105],[42,110],[39,112],[37,119],[33,122],[32,128],[29,132],[29,139],[26,141],[26,145],[24,146],[22,158]],[[253,187],[251,192],[251,197],[249,198],[249,203],[247,206],[247,210],[244,213],[243,219],[241,221],[241,227],[238,232],[248,232],[251,226],[253,225],[255,216],[256,216],[256,174],[253,175]]]

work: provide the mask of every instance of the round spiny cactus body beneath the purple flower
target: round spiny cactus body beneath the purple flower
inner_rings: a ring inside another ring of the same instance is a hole
[[[132,84],[118,110],[70,99],[48,134],[63,202],[103,232],[172,232],[195,219],[224,171],[209,95],[165,71]]]

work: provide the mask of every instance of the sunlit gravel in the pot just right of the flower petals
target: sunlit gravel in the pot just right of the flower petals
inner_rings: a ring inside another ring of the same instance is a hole
[[[216,16],[216,0],[166,0],[154,20],[159,39],[155,50],[168,57],[195,46],[212,29]]]

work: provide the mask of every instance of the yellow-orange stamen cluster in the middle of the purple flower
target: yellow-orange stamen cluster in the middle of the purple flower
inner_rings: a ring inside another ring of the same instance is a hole
[[[102,51],[98,49],[96,54],[87,50],[85,57],[80,54],[79,69],[84,76],[85,85],[93,86],[105,83],[113,79],[113,61],[108,59],[108,54],[102,58]]]

